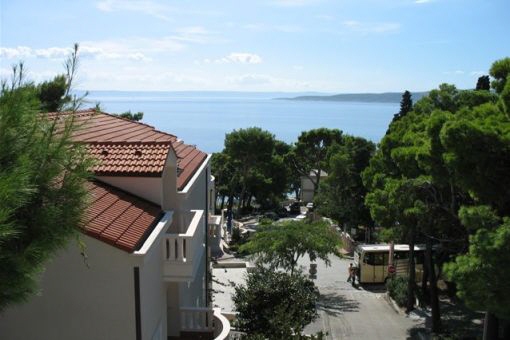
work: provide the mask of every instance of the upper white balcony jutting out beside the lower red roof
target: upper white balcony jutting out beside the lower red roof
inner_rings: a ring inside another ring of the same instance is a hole
[[[168,233],[163,239],[163,278],[165,281],[193,281],[205,253],[203,210],[191,210],[185,233]]]

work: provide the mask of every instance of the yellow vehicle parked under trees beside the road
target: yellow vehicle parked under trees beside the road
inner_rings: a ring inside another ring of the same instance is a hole
[[[423,275],[424,245],[414,246],[416,281]],[[409,245],[396,244],[393,251],[393,267],[390,267],[389,244],[364,244],[354,250],[354,263],[359,283],[383,283],[391,275],[404,276],[409,271]]]

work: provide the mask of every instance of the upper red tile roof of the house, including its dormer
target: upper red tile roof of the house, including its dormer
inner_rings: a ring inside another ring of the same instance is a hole
[[[97,175],[160,176],[173,148],[177,156],[177,188],[184,189],[207,154],[154,127],[94,110],[49,113],[50,118],[74,115],[76,141],[87,144],[98,160]]]

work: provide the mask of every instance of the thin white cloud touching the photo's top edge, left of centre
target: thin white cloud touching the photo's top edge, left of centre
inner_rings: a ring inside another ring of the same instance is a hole
[[[169,21],[173,8],[151,0],[103,0],[96,3],[96,8],[103,12],[128,11],[144,13],[155,18]]]

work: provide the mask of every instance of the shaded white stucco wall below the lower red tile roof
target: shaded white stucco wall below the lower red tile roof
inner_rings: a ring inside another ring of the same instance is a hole
[[[81,235],[89,268],[72,240],[47,265],[41,293],[0,315],[0,339],[135,339],[129,254]]]

